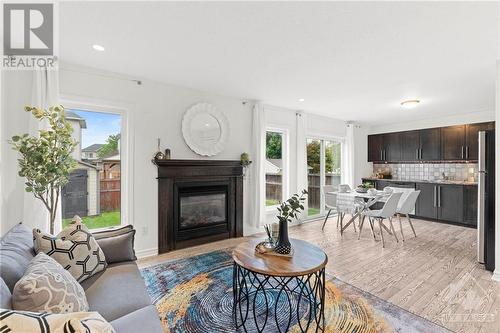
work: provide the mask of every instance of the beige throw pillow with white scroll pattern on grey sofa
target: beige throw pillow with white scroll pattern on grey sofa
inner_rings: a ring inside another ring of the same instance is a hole
[[[82,286],[71,274],[45,253],[28,264],[12,293],[15,310],[64,313],[88,311]]]

